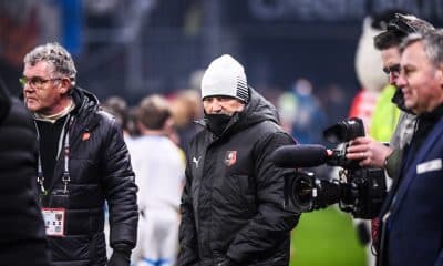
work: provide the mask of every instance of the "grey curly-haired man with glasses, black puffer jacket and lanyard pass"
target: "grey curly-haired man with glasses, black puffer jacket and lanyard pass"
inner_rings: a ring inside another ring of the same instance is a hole
[[[48,43],[24,58],[24,104],[39,140],[38,186],[53,265],[106,265],[104,202],[112,266],[128,266],[136,243],[134,173],[121,127],[75,86],[71,54]]]

